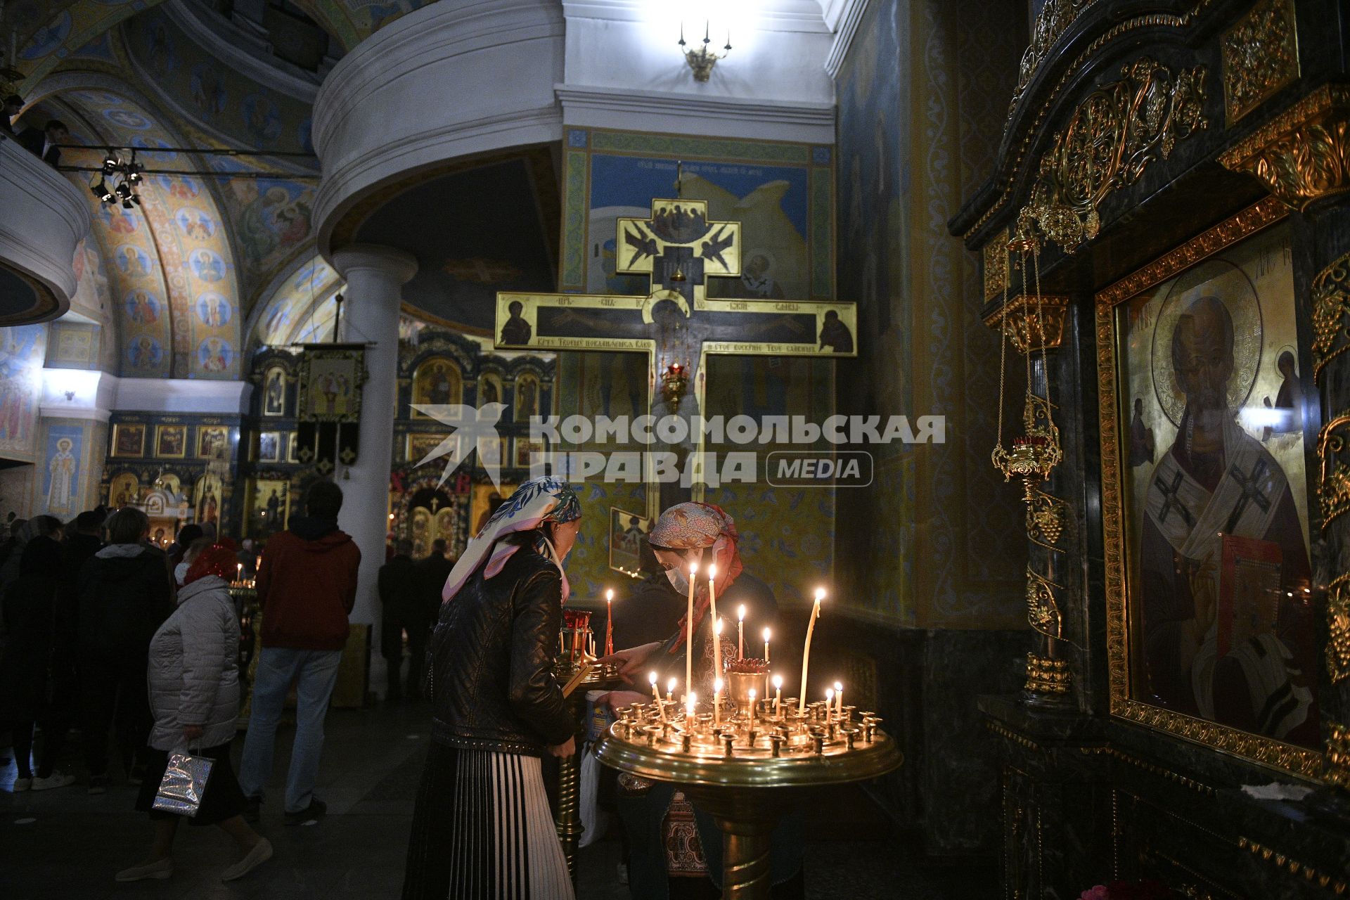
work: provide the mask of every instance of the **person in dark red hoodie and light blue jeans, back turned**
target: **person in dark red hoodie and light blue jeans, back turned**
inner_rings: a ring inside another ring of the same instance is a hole
[[[258,568],[262,657],[254,680],[252,714],[239,783],[256,822],[271,779],[277,723],[296,684],[296,741],[286,775],[286,824],[319,819],[327,806],[315,797],[324,716],[347,644],[347,617],[356,603],[360,549],[338,528],[342,488],[319,482],[305,497],[305,515],[267,541]]]

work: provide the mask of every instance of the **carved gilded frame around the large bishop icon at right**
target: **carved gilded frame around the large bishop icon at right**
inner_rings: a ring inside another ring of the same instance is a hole
[[[1120,432],[1127,428],[1127,422],[1120,420],[1119,413],[1115,310],[1126,300],[1278,223],[1287,215],[1288,208],[1284,204],[1268,197],[1106,287],[1095,297],[1107,665],[1111,715],[1293,775],[1318,777],[1323,761],[1320,752],[1152,706],[1130,695],[1130,598],[1120,459]]]

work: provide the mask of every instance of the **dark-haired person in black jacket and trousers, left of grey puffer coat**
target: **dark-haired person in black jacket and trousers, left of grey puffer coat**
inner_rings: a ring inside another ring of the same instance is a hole
[[[80,569],[78,648],[89,793],[108,788],[108,729],[132,781],[150,735],[146,656],[173,613],[167,560],[146,544],[150,519],[124,506],[108,519],[108,546]]]

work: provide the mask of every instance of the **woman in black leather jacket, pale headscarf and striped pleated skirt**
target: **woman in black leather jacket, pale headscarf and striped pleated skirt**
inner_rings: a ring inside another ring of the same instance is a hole
[[[575,753],[554,677],[576,494],[521,484],[468,541],[428,650],[432,745],[413,811],[408,900],[571,900],[540,757]]]

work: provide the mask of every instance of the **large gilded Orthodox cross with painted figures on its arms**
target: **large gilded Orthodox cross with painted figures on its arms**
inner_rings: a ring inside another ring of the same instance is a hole
[[[649,219],[618,219],[616,244],[616,273],[651,277],[652,293],[498,293],[495,345],[647,354],[648,409],[686,418],[702,412],[709,355],[857,356],[855,304],[707,297],[709,278],[741,274],[741,224],[710,221],[705,201],[653,200]],[[694,403],[662,394],[672,364],[691,379]],[[664,494],[663,506],[679,499]],[[701,499],[702,486],[693,494]]]

